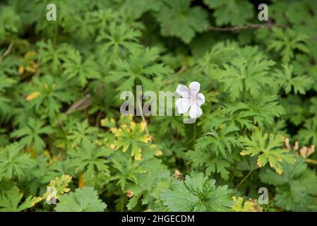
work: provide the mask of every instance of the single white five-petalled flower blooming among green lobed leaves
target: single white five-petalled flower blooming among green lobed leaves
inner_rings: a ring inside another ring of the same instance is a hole
[[[181,95],[181,98],[175,102],[179,114],[189,111],[189,117],[192,119],[201,117],[203,114],[201,105],[205,102],[205,96],[198,93],[200,88],[201,84],[198,82],[189,84],[189,89],[185,85],[177,86],[176,92]]]

